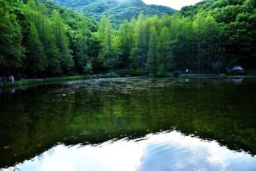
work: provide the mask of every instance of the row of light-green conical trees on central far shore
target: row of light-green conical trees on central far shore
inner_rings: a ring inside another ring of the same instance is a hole
[[[104,66],[140,68],[152,74],[173,70],[210,70],[211,61],[222,61],[223,31],[214,17],[198,13],[193,19],[140,14],[131,22],[124,20],[113,31],[110,20],[103,16],[98,34],[103,38],[100,57]]]

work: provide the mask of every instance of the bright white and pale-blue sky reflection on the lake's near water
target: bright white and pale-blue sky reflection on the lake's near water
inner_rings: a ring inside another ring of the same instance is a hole
[[[57,145],[6,170],[255,170],[256,158],[177,131],[100,145]]]

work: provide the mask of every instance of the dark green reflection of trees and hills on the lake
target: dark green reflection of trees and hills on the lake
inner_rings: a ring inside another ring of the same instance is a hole
[[[57,142],[100,143],[170,127],[256,154],[256,99],[248,93],[255,91],[255,84],[244,89],[236,84],[212,86],[207,81],[194,84],[191,80],[177,87],[166,84],[131,94],[122,93],[119,87],[110,91],[82,87],[70,92],[65,87],[57,92],[51,92],[56,87],[38,87],[36,92],[17,92],[4,103],[1,97],[0,121],[4,124],[0,136],[5,140],[0,142],[0,154],[6,155],[0,159],[11,165]],[[10,148],[2,148],[7,145]]]

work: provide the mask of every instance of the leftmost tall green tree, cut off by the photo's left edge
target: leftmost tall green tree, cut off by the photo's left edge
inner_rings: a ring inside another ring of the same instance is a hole
[[[24,48],[22,30],[15,15],[19,2],[0,1],[0,66],[3,74],[22,65]]]

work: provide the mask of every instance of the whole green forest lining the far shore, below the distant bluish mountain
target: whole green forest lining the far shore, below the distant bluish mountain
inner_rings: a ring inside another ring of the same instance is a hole
[[[117,69],[165,75],[256,66],[254,0],[203,1],[162,17],[141,11],[118,29],[108,15],[95,22],[44,0],[0,0],[0,16],[0,75],[46,78]]]

